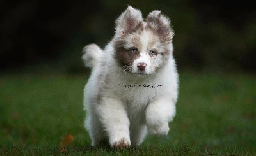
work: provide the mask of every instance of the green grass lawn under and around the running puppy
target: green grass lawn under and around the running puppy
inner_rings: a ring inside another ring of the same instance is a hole
[[[168,136],[140,148],[91,148],[84,130],[88,76],[1,74],[0,155],[256,155],[256,76],[183,72]]]

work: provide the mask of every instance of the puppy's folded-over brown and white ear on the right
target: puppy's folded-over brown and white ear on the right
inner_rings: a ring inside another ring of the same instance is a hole
[[[174,32],[170,27],[168,17],[161,14],[161,11],[155,10],[148,14],[148,26],[159,34],[164,41],[170,41],[173,38]]]

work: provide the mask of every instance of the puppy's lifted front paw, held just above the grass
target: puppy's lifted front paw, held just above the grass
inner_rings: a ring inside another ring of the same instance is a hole
[[[166,136],[169,132],[168,123],[161,124],[161,125],[147,125],[148,131],[156,136]]]

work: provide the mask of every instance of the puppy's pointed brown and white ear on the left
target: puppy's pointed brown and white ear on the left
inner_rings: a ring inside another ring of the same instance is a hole
[[[136,31],[142,25],[142,22],[141,11],[128,6],[116,20],[116,34],[123,36],[124,34]]]

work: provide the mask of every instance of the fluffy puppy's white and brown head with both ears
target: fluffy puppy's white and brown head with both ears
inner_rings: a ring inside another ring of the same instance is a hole
[[[173,52],[173,30],[161,11],[152,11],[144,22],[141,11],[128,6],[116,20],[115,59],[131,74],[157,73]]]

